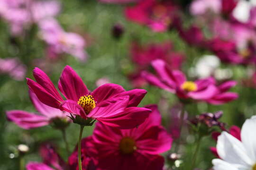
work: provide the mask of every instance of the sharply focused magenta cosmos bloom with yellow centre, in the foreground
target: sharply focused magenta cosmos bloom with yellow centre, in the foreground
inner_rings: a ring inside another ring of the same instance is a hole
[[[41,102],[85,120],[97,119],[109,126],[133,128],[140,125],[151,112],[137,107],[146,90],[125,91],[120,85],[104,84],[90,93],[70,66],[64,68],[58,83],[59,90],[67,99],[65,101],[46,73],[35,68],[34,77],[37,82],[27,78],[27,85]]]

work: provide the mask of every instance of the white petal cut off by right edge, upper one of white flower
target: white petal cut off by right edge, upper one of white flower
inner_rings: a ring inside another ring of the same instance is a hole
[[[256,161],[256,117],[247,119],[241,130],[241,139],[247,154]]]

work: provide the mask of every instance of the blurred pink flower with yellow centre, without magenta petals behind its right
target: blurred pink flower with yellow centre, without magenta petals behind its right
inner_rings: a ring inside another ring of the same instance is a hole
[[[171,70],[169,66],[161,59],[152,62],[157,76],[144,72],[146,80],[155,86],[165,89],[181,99],[194,99],[206,101],[217,93],[213,78],[199,79],[196,81],[187,81],[185,75],[178,70]]]

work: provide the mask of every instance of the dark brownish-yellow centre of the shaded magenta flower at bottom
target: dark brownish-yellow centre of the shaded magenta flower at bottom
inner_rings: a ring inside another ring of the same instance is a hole
[[[119,148],[121,153],[124,154],[133,153],[137,149],[135,140],[130,137],[122,138],[119,144]]]

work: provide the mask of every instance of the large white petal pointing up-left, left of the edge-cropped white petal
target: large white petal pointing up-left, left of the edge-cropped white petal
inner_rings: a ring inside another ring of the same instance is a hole
[[[247,155],[244,145],[234,136],[222,132],[217,141],[217,152],[219,157],[231,164],[251,167],[255,160]]]

